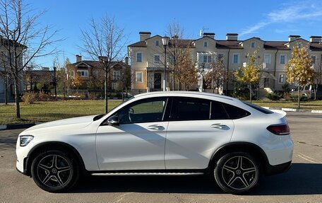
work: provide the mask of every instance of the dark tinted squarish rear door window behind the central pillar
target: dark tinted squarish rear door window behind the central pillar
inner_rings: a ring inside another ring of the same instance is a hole
[[[171,120],[209,120],[210,100],[174,98]]]

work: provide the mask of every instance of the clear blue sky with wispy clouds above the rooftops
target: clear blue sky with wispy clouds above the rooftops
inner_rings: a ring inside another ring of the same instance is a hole
[[[230,0],[230,1],[130,1],[130,0],[25,0],[35,11],[46,11],[40,25],[50,25],[59,30],[57,56],[35,59],[41,66],[54,66],[54,58],[64,64],[68,58],[76,62],[76,54],[83,59],[80,46],[81,30],[87,29],[90,18],[114,17],[129,44],[139,41],[140,31],[152,35],[165,35],[167,25],[179,23],[184,35],[198,39],[200,30],[215,33],[215,39],[225,40],[226,33],[239,33],[240,40],[261,37],[262,40],[287,40],[288,35],[301,35],[309,40],[311,35],[322,35],[322,1],[285,0]],[[126,52],[126,47],[124,52]]]

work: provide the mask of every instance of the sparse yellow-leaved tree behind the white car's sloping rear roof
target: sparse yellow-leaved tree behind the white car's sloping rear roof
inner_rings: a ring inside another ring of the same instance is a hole
[[[249,84],[249,102],[251,103],[251,85],[258,83],[261,65],[257,62],[257,50],[253,54],[248,53],[247,57],[249,62],[244,63],[243,67],[234,71],[234,76],[237,81]]]

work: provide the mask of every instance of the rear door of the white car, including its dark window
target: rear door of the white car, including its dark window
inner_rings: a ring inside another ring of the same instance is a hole
[[[165,144],[166,169],[207,168],[214,150],[229,142],[233,130],[221,103],[174,98]]]

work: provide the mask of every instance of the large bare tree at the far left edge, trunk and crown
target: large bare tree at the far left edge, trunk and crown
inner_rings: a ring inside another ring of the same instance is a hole
[[[23,0],[0,1],[1,45],[8,57],[8,68],[13,76],[16,100],[16,117],[20,118],[19,84],[21,72],[37,57],[53,54],[56,49],[45,50],[54,45],[57,31],[45,25],[40,28],[40,18],[44,11],[35,13]]]

